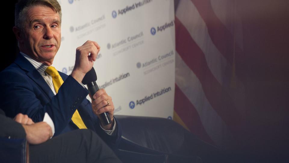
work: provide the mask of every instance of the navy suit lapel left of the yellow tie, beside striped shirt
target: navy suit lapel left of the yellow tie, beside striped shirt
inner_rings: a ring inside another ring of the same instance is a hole
[[[54,93],[51,91],[43,77],[26,58],[19,54],[17,59],[15,60],[15,63],[20,66],[21,69],[26,71],[26,75],[42,89],[42,91],[49,100],[54,96]]]

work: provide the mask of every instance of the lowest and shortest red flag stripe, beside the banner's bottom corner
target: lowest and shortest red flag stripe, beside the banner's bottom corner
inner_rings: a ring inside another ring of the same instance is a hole
[[[199,114],[191,101],[183,94],[178,85],[175,88],[175,104],[174,110],[182,118],[185,125],[192,133],[197,135],[200,139],[214,145],[214,142],[207,134],[204,126],[200,120]]]

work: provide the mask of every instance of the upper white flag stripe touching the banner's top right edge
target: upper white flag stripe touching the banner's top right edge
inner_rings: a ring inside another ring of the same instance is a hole
[[[176,17],[182,22],[193,40],[203,51],[210,71],[222,85],[227,61],[212,42],[207,26],[194,4],[190,0],[180,1],[176,10]]]

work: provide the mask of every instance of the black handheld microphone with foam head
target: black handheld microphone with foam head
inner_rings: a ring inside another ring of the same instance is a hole
[[[96,84],[97,76],[95,73],[94,68],[92,67],[89,72],[87,72],[82,79],[82,84],[86,85],[89,91],[89,94],[91,97],[99,90],[97,84]],[[94,100],[93,98],[91,99],[92,101]],[[110,117],[107,112],[101,113],[99,115],[101,123],[106,126],[111,123]]]

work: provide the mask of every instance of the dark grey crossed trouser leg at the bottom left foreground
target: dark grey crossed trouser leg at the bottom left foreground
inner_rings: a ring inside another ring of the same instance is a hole
[[[30,163],[121,162],[105,142],[88,129],[56,136],[39,145],[29,145]]]

